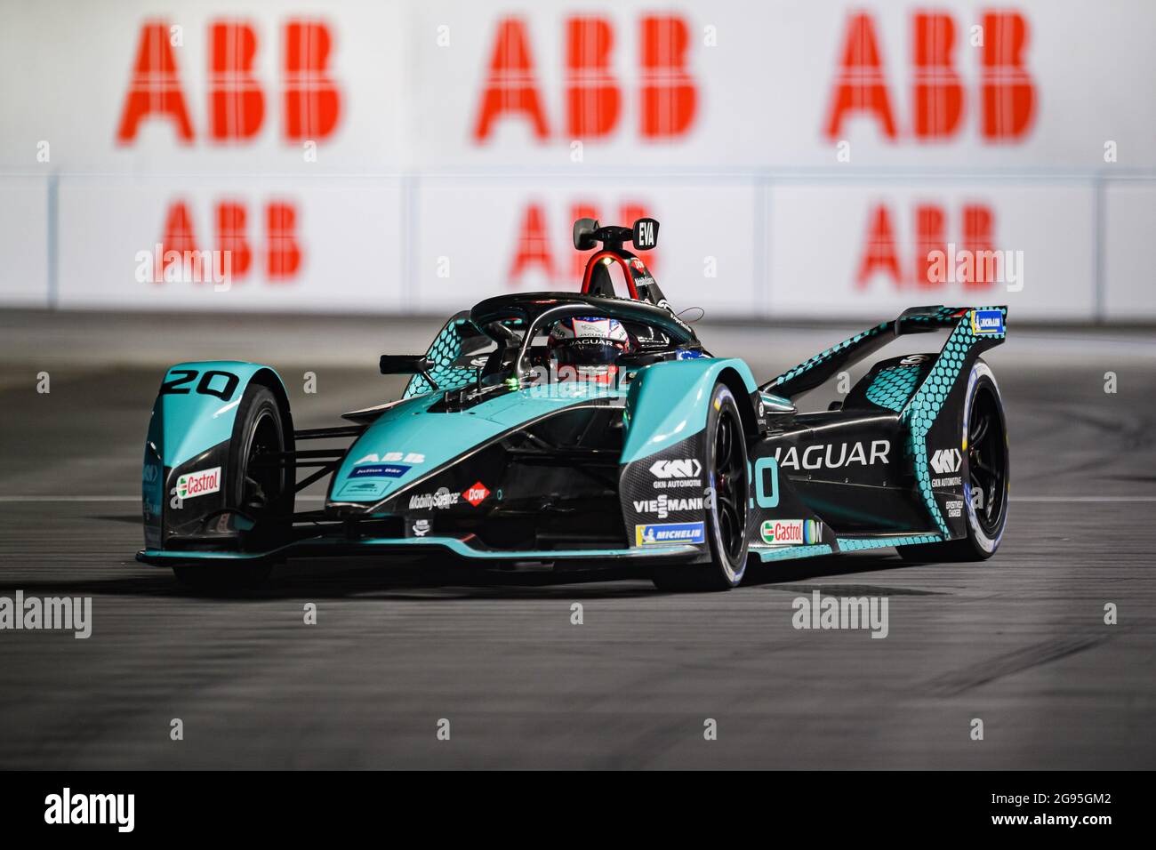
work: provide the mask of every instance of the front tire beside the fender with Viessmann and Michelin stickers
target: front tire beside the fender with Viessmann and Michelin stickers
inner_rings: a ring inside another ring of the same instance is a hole
[[[711,563],[657,567],[659,590],[731,590],[747,570],[747,438],[734,394],[718,383],[706,412],[703,468],[713,497],[707,500],[706,542]]]

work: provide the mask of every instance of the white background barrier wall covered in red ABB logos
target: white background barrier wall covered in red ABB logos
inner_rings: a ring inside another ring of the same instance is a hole
[[[40,0],[0,28],[0,304],[446,312],[649,214],[716,317],[1151,320],[1154,39],[1148,0]]]

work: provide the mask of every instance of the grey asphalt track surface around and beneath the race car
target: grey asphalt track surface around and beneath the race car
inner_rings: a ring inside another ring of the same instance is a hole
[[[0,767],[1156,767],[1150,332],[1017,330],[1013,317],[987,356],[1010,420],[1011,513],[983,564],[884,550],[668,594],[629,574],[298,561],[252,598],[213,599],[134,562],[142,439],[168,362],[271,362],[297,424],[316,427],[395,392],[376,355],[417,350],[435,330],[0,316],[0,596],[92,598],[88,640],[0,631]],[[699,334],[770,376],[845,330]],[[909,350],[934,350],[925,340]],[[50,393],[36,392],[40,371]],[[887,597],[888,637],[794,629],[792,601],[813,590]]]

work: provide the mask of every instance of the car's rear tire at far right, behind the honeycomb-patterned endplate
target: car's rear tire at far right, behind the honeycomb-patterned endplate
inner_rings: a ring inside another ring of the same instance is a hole
[[[963,500],[968,534],[941,544],[901,546],[906,561],[986,561],[1003,539],[1010,489],[1007,415],[995,376],[983,360],[972,368],[963,427],[968,429]]]

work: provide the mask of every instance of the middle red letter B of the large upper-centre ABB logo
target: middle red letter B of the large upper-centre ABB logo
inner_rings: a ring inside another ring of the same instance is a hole
[[[618,123],[622,95],[610,74],[614,30],[601,17],[566,22],[566,132],[598,139]]]

